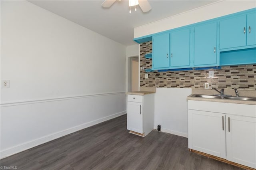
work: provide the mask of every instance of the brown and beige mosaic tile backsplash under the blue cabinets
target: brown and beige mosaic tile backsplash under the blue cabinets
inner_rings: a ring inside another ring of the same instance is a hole
[[[152,67],[152,59],[144,55],[152,52],[152,41],[140,44],[140,67]],[[208,77],[209,70],[214,70],[214,77]],[[148,72],[140,70],[141,87],[177,87],[204,89],[204,83],[226,89],[256,90],[256,65],[224,66],[221,69]]]

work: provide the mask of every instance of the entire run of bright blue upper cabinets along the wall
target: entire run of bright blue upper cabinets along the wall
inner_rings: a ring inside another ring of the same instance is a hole
[[[254,64],[256,8],[134,39],[151,40],[152,70]]]

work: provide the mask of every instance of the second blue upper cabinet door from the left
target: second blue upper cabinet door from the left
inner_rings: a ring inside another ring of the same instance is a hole
[[[190,66],[190,28],[171,33],[171,68]]]

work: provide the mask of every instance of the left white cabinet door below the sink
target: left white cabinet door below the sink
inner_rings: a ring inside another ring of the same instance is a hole
[[[188,148],[226,159],[225,114],[188,110]]]

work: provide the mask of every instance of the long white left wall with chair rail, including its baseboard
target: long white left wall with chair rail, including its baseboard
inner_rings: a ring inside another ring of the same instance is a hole
[[[126,113],[126,47],[1,1],[1,158]]]

